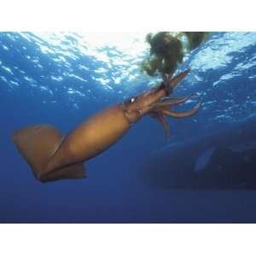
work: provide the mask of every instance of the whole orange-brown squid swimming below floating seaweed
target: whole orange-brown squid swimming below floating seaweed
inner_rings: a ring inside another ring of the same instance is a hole
[[[165,75],[160,85],[85,119],[66,137],[52,125],[21,128],[13,134],[15,146],[31,166],[34,176],[42,183],[87,177],[84,161],[96,157],[117,143],[145,115],[149,114],[159,120],[164,125],[166,136],[169,136],[166,116],[184,118],[199,111],[201,102],[188,112],[172,111],[173,107],[190,98],[170,96],[188,73],[189,70],[185,70],[174,78]]]

